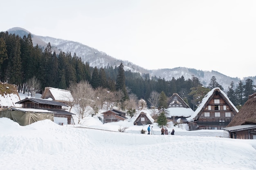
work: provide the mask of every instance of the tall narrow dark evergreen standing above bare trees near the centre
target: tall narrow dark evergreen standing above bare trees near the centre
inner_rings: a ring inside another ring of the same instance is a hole
[[[127,91],[126,91],[126,85],[125,85],[125,76],[124,76],[124,66],[123,63],[120,64],[118,68],[118,75],[117,75],[117,81],[116,81],[116,90],[121,90],[123,93],[122,101],[125,101],[129,99]]]

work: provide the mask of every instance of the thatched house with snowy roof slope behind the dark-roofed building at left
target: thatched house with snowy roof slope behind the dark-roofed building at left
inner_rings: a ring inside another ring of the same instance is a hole
[[[41,99],[49,99],[53,101],[62,102],[68,104],[68,102],[73,101],[73,97],[70,91],[66,91],[59,88],[45,87]]]

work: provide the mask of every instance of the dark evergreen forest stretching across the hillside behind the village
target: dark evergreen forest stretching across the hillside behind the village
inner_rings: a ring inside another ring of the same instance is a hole
[[[38,45],[33,46],[30,33],[21,38],[7,31],[0,32],[0,81],[16,84],[18,92],[28,91],[27,83],[33,77],[40,81],[41,91],[45,87],[68,89],[72,83],[87,81],[94,89],[101,87],[112,92],[121,91],[121,102],[129,100],[130,95],[135,95],[137,99],[144,99],[148,103],[153,91],[167,98],[173,93],[178,93],[195,110],[211,89],[222,89],[214,76],[209,86],[203,87],[195,76],[187,80],[182,76],[166,81],[161,77],[150,77],[149,74],[124,71],[123,67],[120,63],[115,68],[93,68],[90,63],[84,63],[81,57],[76,56],[76,53],[73,56],[70,52],[64,51],[56,54],[52,51],[50,42],[45,49]],[[227,96],[239,109],[253,93],[255,86],[251,79],[247,79],[246,82],[240,81],[237,87],[231,82]],[[166,105],[161,103],[161,107]]]

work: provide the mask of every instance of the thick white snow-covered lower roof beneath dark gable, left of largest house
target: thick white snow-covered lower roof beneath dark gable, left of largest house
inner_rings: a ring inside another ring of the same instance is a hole
[[[193,115],[194,111],[191,108],[171,107],[167,108],[167,117],[189,117]]]

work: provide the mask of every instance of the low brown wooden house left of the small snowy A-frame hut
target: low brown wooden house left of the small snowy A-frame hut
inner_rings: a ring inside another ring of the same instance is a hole
[[[126,113],[120,110],[112,109],[103,113],[103,124],[108,122],[124,121],[126,119]]]

